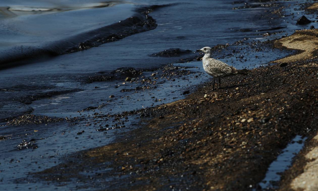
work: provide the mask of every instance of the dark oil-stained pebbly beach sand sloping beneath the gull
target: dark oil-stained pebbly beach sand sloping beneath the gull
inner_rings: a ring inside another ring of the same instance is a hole
[[[33,176],[107,190],[260,189],[270,163],[301,135],[307,147],[283,176],[281,190],[304,189],[296,182],[314,160],[305,157],[318,123],[317,33],[297,31],[273,42],[301,51],[247,76],[224,78],[221,89],[207,92],[208,82],[183,100],[124,113],[138,114],[140,128]]]

